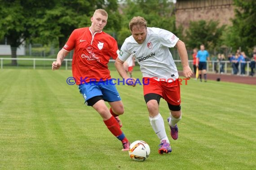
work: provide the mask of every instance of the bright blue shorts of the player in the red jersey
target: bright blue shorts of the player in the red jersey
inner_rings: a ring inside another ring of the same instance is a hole
[[[111,85],[109,81],[93,81],[78,85],[79,92],[83,95],[85,103],[95,96],[102,96],[106,102],[120,101],[121,97],[115,85]]]

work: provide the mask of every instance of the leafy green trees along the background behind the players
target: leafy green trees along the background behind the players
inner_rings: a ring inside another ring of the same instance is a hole
[[[175,25],[175,4],[170,0],[0,0],[0,39],[7,38],[12,57],[17,47],[26,43],[50,44],[61,48],[71,32],[90,26],[95,9],[105,9],[105,32],[122,45],[130,34],[128,22],[133,16],[144,17],[149,27],[159,27],[176,34],[188,49],[205,44],[209,50],[223,46],[250,51],[256,45],[256,1],[234,0],[233,26],[219,26],[218,21],[191,21],[190,27]],[[17,64],[13,60],[13,65]]]

